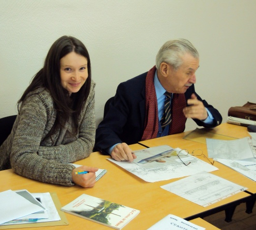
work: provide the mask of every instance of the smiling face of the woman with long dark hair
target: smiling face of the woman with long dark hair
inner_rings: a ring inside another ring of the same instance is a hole
[[[87,59],[71,52],[60,59],[60,79],[69,94],[78,92],[88,77]]]

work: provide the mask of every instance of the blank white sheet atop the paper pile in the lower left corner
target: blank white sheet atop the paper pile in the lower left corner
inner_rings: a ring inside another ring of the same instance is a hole
[[[0,192],[0,224],[43,210],[12,190]]]

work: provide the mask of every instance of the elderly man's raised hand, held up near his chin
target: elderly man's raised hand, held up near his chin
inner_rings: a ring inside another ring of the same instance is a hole
[[[197,100],[194,93],[191,95],[191,99],[187,100],[187,104],[190,106],[183,109],[183,113],[186,118],[205,120],[208,117],[207,110],[205,109],[203,103]]]

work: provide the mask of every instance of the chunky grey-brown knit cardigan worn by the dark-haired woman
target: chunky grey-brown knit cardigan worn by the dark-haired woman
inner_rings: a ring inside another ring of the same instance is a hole
[[[22,102],[11,134],[0,147],[0,170],[6,169],[10,161],[19,175],[41,182],[74,185],[71,172],[75,167],[68,163],[88,157],[95,141],[94,88],[92,81],[78,118],[78,138],[58,146],[55,145],[60,130],[52,140],[50,137],[43,140],[56,119],[50,93],[43,88],[30,92]]]

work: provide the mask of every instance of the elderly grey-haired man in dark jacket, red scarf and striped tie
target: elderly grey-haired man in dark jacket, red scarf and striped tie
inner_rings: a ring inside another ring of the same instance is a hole
[[[121,83],[105,106],[94,149],[114,159],[133,161],[128,144],[181,133],[187,118],[212,128],[222,117],[195,92],[199,54],[185,39],[167,41],[146,73]]]

